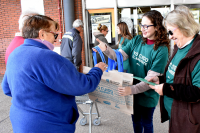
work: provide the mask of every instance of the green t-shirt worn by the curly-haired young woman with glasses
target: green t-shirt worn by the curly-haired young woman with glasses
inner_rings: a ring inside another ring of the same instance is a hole
[[[129,56],[130,73],[141,78],[145,78],[149,70],[163,73],[168,60],[168,48],[160,46],[154,50],[154,44],[147,45],[142,42],[142,37],[138,35],[122,48]],[[145,107],[155,107],[158,99],[158,93],[152,89],[134,95],[134,102]]]

